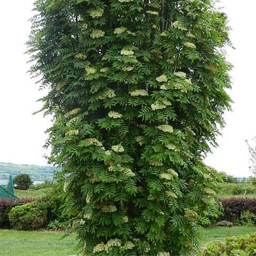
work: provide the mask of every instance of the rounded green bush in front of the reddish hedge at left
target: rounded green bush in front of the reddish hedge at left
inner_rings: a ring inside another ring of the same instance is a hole
[[[9,213],[11,226],[23,231],[45,227],[46,219],[47,204],[39,201],[16,206]]]

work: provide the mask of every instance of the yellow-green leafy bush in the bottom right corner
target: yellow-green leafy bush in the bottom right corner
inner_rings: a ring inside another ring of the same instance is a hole
[[[256,234],[226,238],[223,242],[214,243],[204,248],[198,255],[255,255]]]

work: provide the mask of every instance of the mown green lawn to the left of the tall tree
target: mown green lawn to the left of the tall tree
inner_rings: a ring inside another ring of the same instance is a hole
[[[0,229],[1,256],[68,256],[75,255],[75,235],[62,239],[64,233],[13,231]]]

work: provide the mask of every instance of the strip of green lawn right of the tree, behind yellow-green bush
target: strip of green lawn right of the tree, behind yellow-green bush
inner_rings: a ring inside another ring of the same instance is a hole
[[[256,227],[209,227],[200,234],[200,244],[205,246],[215,240],[224,240],[227,236],[239,236],[256,232]]]

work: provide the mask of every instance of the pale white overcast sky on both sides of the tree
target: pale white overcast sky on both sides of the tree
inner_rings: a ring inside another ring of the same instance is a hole
[[[45,92],[38,90],[30,78],[29,56],[25,41],[29,37],[33,0],[0,1],[1,24],[1,85],[0,85],[0,162],[47,165],[43,157],[45,130],[50,117],[32,115],[41,107],[36,101]],[[234,104],[225,113],[226,127],[205,162],[218,171],[234,176],[250,176],[248,148],[245,139],[256,136],[255,72],[255,0],[220,0],[219,6],[229,17],[231,41],[236,50],[227,49],[227,58],[234,65],[231,72]],[[11,16],[10,16],[11,10]]]

